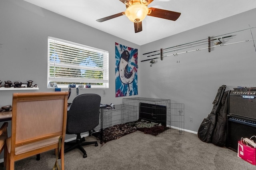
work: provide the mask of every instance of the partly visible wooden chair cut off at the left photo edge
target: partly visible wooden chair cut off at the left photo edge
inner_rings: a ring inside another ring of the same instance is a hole
[[[5,122],[0,128],[0,153],[4,150],[4,167],[6,167],[6,138],[8,122]]]

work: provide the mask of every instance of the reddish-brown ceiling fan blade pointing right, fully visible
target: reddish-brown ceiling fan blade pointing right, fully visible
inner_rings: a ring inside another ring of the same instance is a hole
[[[180,17],[180,12],[174,12],[174,11],[168,11],[168,10],[162,10],[158,8],[148,8],[149,10],[152,10],[148,16],[154,16],[158,18],[164,18],[166,20],[172,20],[176,21]]]

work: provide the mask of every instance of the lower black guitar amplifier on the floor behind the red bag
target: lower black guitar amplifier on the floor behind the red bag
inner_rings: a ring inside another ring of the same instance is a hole
[[[227,115],[226,147],[237,152],[238,141],[256,134],[256,119]]]

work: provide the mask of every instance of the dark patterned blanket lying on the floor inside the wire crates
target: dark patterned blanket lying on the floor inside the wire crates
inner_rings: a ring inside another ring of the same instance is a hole
[[[144,119],[139,119],[136,122],[114,125],[112,127],[103,129],[103,141],[101,142],[106,143],[110,140],[118,139],[126,134],[135,132],[136,130],[140,130],[147,134],[158,135],[166,129],[168,129],[168,127],[162,126],[159,123],[153,123],[145,121]],[[92,134],[96,136],[98,140],[100,140],[100,132],[93,132]]]

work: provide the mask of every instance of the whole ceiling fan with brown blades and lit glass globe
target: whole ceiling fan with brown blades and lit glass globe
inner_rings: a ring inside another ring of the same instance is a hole
[[[98,19],[98,22],[104,22],[118,16],[126,15],[130,21],[134,22],[135,33],[142,31],[142,20],[148,16],[164,18],[166,20],[176,21],[180,17],[180,12],[162,10],[158,8],[148,8],[153,0],[120,0],[126,5],[125,12],[120,12],[112,16]]]

